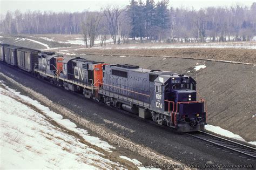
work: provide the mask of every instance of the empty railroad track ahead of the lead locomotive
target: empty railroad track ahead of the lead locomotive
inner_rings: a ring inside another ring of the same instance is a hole
[[[218,137],[216,135],[199,131],[196,133],[186,133],[194,138],[206,141],[214,146],[227,149],[230,153],[238,153],[239,157],[244,159],[255,159],[256,160],[256,148],[240,144],[232,140]]]

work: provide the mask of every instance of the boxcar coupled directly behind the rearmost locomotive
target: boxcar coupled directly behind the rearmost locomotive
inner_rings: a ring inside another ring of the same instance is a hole
[[[38,53],[40,51],[33,49],[17,49],[17,66],[25,71],[31,72],[38,63]]]

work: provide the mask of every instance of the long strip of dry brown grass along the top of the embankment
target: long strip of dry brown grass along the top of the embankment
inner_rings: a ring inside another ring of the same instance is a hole
[[[180,58],[215,59],[242,63],[256,63],[256,50],[253,49],[83,49],[76,51],[76,53],[118,56],[170,56]]]

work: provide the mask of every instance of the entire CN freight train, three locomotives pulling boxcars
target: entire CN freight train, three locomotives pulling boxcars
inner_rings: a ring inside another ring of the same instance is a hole
[[[204,130],[206,125],[205,100],[197,101],[196,81],[184,74],[95,62],[8,44],[0,44],[0,48],[2,62],[86,98],[179,132]]]

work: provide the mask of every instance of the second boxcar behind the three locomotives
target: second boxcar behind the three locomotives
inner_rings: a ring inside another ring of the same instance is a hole
[[[4,46],[4,57],[6,63],[17,66],[17,49],[21,49],[21,47],[14,45]]]

